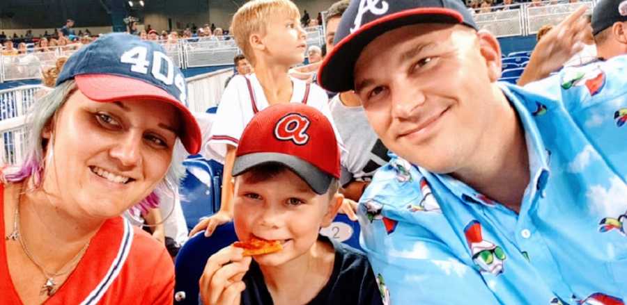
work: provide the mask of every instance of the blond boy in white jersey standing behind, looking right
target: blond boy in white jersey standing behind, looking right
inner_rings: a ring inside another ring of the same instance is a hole
[[[331,117],[322,88],[288,76],[290,67],[303,62],[307,50],[307,35],[299,19],[298,8],[290,0],[249,1],[233,16],[231,33],[255,73],[233,77],[222,95],[208,142],[210,155],[224,163],[222,204],[191,235],[206,227],[209,236],[217,225],[231,220],[233,190],[228,182],[233,156],[242,130],[258,111],[274,104],[302,103]]]

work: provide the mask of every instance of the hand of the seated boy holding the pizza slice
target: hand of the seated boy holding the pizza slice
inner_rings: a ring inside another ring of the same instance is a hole
[[[226,247],[213,254],[199,281],[201,299],[208,305],[239,305],[246,285],[242,281],[250,267],[251,257],[244,249]]]

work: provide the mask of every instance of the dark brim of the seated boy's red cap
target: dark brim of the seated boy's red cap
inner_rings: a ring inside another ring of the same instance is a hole
[[[253,167],[266,164],[280,164],[288,167],[294,174],[303,179],[316,194],[323,195],[329,190],[333,176],[323,172],[311,163],[288,154],[253,153],[238,156],[233,163],[233,176],[248,172]]]

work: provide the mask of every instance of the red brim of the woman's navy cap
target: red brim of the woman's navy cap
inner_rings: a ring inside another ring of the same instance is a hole
[[[178,109],[183,118],[183,129],[178,137],[189,154],[198,154],[202,135],[198,122],[178,99],[165,90],[139,79],[112,74],[83,74],[75,76],[79,90],[94,101],[111,102],[125,99],[155,99]]]

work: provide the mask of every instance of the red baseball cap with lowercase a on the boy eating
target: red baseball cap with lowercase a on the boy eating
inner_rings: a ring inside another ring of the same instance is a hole
[[[329,119],[311,106],[277,104],[248,123],[235,153],[233,176],[277,163],[300,176],[316,194],[340,177],[340,150]]]

